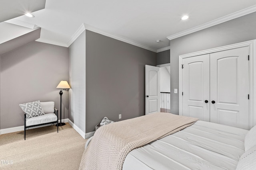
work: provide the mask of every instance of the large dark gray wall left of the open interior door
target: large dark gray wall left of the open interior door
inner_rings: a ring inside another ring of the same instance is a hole
[[[156,53],[86,30],[86,133],[104,116],[145,114],[145,64],[156,66]]]

